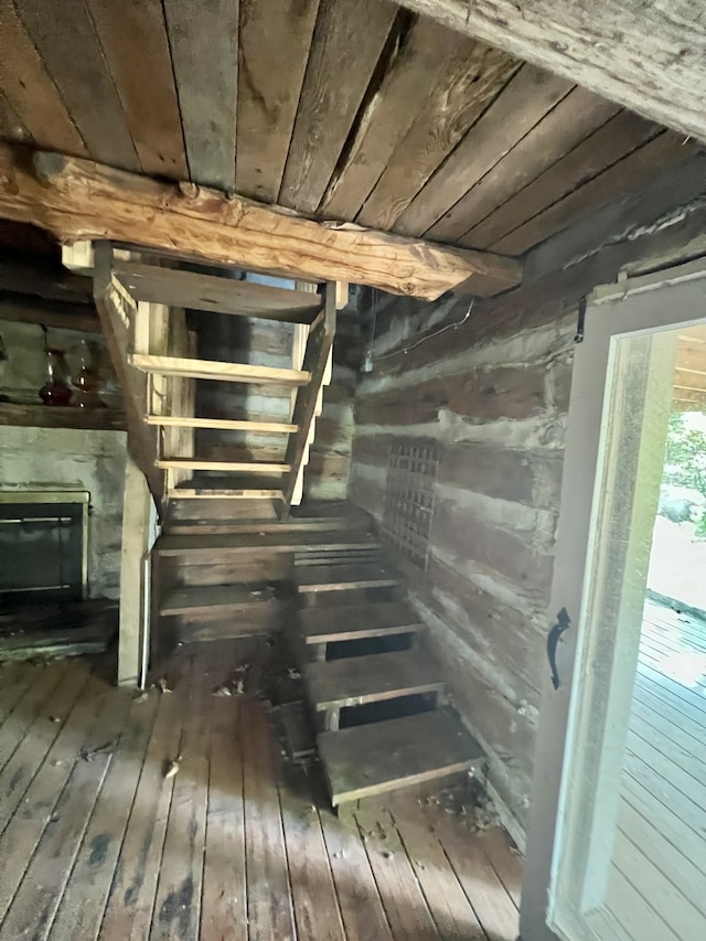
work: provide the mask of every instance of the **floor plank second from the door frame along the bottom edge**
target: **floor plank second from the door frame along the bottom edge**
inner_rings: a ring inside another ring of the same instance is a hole
[[[409,799],[405,803],[409,803]],[[485,932],[450,869],[436,833],[405,803],[398,805],[397,813],[393,808],[391,831],[396,828],[402,837],[400,845],[409,857],[441,937],[445,941],[485,941]]]

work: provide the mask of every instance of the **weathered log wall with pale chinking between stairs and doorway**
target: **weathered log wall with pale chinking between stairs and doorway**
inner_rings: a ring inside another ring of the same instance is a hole
[[[699,210],[536,275],[516,291],[477,302],[458,329],[408,352],[388,355],[461,319],[468,302],[443,309],[397,300],[378,319],[378,359],[356,394],[350,498],[379,520],[391,443],[441,443],[428,566],[410,567],[410,598],[457,707],[488,751],[491,783],[523,827],[548,669],[578,299],[635,259],[663,250],[678,257],[675,246],[702,232],[705,220]]]

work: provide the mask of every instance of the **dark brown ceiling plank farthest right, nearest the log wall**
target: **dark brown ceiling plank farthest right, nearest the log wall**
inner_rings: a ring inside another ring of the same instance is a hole
[[[533,245],[566,227],[581,213],[596,210],[612,199],[639,190],[662,170],[676,167],[696,150],[696,141],[686,142],[682,135],[664,131],[579,190],[569,193],[525,225],[494,243],[492,248],[501,254],[522,255]]]

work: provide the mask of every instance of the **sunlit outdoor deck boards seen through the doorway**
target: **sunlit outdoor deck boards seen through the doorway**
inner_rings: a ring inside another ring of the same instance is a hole
[[[639,917],[670,941],[706,917],[705,650],[706,621],[645,605],[611,878],[628,890],[640,867],[645,899],[657,899],[666,879],[671,924],[657,905],[620,905],[621,918],[631,912],[634,923],[622,924],[631,937],[643,937]]]

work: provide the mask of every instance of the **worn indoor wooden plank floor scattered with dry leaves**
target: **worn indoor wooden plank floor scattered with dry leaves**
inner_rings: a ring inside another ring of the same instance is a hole
[[[281,757],[265,644],[213,695],[243,656],[182,648],[142,699],[105,661],[0,667],[0,939],[515,941],[504,832],[409,796],[336,817]]]

